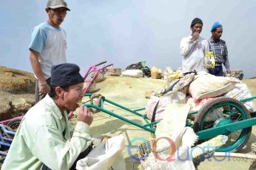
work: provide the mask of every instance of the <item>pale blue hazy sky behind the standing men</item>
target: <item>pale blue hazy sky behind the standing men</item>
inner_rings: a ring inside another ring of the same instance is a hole
[[[28,45],[34,26],[48,20],[46,0],[0,0],[0,65],[32,72]],[[256,77],[256,0],[67,0],[61,27],[67,32],[67,62],[81,74],[101,61],[114,67],[146,61],[165,70],[181,67],[179,45],[191,34],[195,18],[203,20],[201,37],[211,37],[219,21],[231,71]]]

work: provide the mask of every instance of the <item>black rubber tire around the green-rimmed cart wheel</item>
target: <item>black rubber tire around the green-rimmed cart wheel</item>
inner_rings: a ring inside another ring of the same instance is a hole
[[[197,113],[197,118],[195,120],[195,127],[194,127],[194,131],[199,132],[203,129],[201,129],[202,126],[202,122],[203,117],[208,113],[208,111],[211,111],[212,107],[216,106],[216,105],[220,105],[220,104],[232,104],[232,105],[236,105],[236,107],[240,108],[245,114],[247,119],[251,118],[249,111],[247,110],[247,108],[238,100],[236,99],[232,99],[232,98],[227,98],[227,97],[220,97],[217,99],[212,99],[211,101],[208,101],[205,105],[203,105],[201,107],[201,109],[198,111]],[[214,127],[213,127],[214,128]],[[247,131],[247,132],[246,132]],[[237,152],[238,150],[241,150],[241,148],[247,144],[248,139],[251,136],[252,133],[252,127],[247,127],[247,128],[243,128],[241,133],[244,132],[246,133],[246,137],[245,139],[243,139],[241,141],[241,144],[239,144],[235,149],[233,150],[225,150],[225,151],[230,151],[230,152]],[[241,139],[241,136],[238,138]],[[236,139],[236,140],[238,140]],[[223,150],[217,150],[217,151],[223,151]]]

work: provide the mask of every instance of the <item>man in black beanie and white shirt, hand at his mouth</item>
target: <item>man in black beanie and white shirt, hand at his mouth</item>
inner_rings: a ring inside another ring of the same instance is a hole
[[[204,56],[207,52],[207,40],[200,37],[203,22],[199,18],[192,20],[189,37],[183,37],[180,42],[180,54],[183,57],[183,73],[190,71],[207,71],[204,67]]]

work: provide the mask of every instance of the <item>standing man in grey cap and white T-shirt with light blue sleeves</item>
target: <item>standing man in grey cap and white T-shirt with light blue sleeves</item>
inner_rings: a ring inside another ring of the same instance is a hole
[[[65,0],[48,0],[45,11],[49,19],[33,29],[29,45],[30,62],[37,79],[36,103],[49,93],[51,66],[67,62],[66,32],[60,26],[70,9]]]

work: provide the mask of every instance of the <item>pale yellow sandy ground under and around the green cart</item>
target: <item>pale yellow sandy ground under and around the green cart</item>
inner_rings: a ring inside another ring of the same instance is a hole
[[[256,95],[256,79],[243,80],[247,83],[253,96]],[[96,94],[102,94],[106,99],[110,99],[113,102],[123,105],[131,110],[136,110],[138,108],[143,108],[148,99],[145,98],[146,91],[160,92],[160,89],[166,84],[165,80],[156,80],[151,78],[132,78],[132,77],[107,77],[103,82],[96,84]],[[84,102],[88,99],[84,98]],[[254,99],[254,104],[256,105],[256,99]],[[140,124],[144,123],[143,118],[140,116],[132,115],[129,112],[123,111],[119,108],[114,107],[106,103],[104,108],[108,111],[118,114],[119,116],[124,116],[131,121],[138,122]],[[142,113],[144,113],[142,111]],[[75,121],[75,116],[73,116],[73,124]],[[90,133],[96,135],[108,135],[115,136],[118,134],[123,134],[125,136],[125,164],[127,170],[137,170],[143,169],[139,161],[135,161],[129,156],[127,151],[127,146],[135,138],[143,138],[151,140],[151,134],[143,130],[142,128],[131,125],[128,122],[124,122],[113,116],[109,116],[106,113],[99,112],[94,115],[94,121],[90,128]],[[253,127],[253,133],[247,143],[247,145],[240,150],[241,153],[250,153],[251,144],[256,141],[256,127]],[[142,142],[142,141],[141,141]],[[135,144],[136,143],[132,143]],[[136,150],[131,150],[133,154]],[[221,158],[219,158],[220,160]],[[217,159],[216,159],[217,160]],[[237,159],[230,158],[224,161],[206,160],[201,162],[198,167],[199,170],[217,170],[217,169],[232,169],[232,170],[242,170],[248,169],[251,160],[248,159]]]

